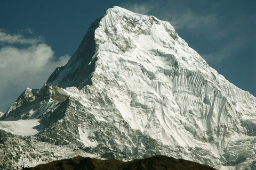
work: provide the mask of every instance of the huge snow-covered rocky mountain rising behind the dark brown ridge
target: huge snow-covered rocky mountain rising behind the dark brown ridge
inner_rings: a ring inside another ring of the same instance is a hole
[[[0,167],[166,155],[253,169],[255,111],[256,98],[212,69],[169,22],[114,6],[65,66],[1,117]]]

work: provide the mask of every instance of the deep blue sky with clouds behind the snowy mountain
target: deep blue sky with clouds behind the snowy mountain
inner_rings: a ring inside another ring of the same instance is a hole
[[[41,88],[113,5],[169,21],[210,66],[256,96],[256,1],[2,0],[0,111],[27,87]]]

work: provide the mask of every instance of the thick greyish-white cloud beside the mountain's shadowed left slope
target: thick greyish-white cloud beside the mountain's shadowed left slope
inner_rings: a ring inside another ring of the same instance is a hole
[[[54,56],[51,46],[42,43],[42,38],[24,38],[1,30],[0,33],[0,41],[5,43],[0,48],[0,110],[5,112],[27,87],[42,87],[55,67],[65,65],[70,56]],[[27,46],[10,46],[13,43]]]

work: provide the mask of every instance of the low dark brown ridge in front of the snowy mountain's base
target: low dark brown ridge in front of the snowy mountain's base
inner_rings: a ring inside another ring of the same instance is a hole
[[[100,160],[89,157],[77,156],[73,159],[62,159],[56,160],[51,163],[38,165],[36,167],[28,168],[31,170],[43,170],[43,169],[88,169],[88,170],[128,170],[128,169],[143,169],[143,170],[154,170],[154,169],[175,169],[175,170],[186,170],[186,169],[215,169],[207,165],[191,162],[184,159],[175,159],[167,156],[153,156],[145,159],[134,159],[130,162],[122,162],[117,159]]]

